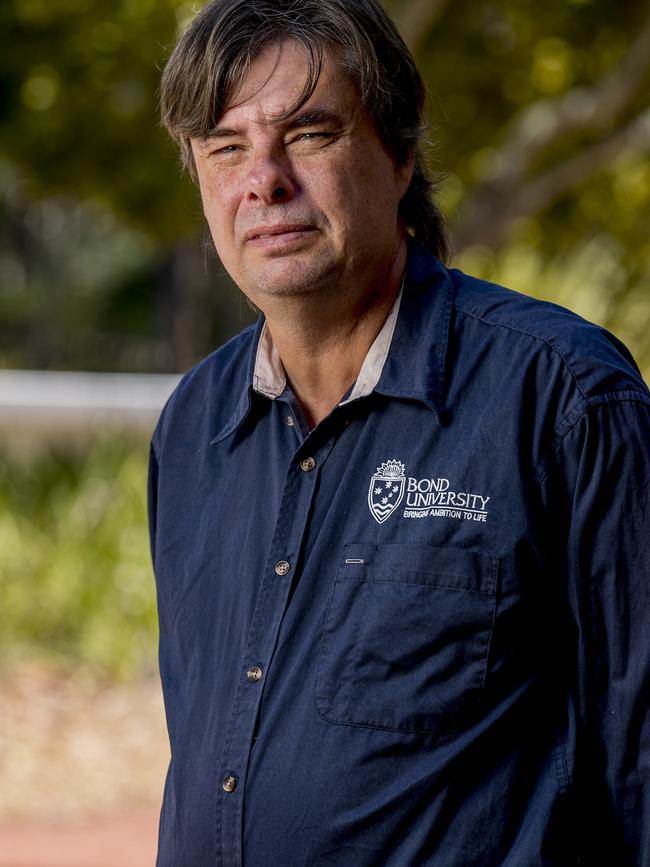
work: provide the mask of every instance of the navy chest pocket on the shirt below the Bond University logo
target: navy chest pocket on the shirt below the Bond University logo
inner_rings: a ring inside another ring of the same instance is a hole
[[[346,545],[330,596],[316,707],[345,725],[451,734],[476,716],[499,560],[412,545]]]

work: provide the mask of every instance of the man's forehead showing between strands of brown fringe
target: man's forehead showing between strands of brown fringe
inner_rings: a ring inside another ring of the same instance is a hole
[[[309,74],[309,57],[301,43],[287,40],[267,45],[251,62],[224,116],[255,112],[267,120],[282,117],[300,103]],[[358,106],[356,88],[331,50],[323,52],[318,81],[305,105],[314,101],[339,110]]]

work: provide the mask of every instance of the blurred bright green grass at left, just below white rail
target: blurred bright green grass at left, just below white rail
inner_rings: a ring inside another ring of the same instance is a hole
[[[155,670],[142,442],[0,457],[0,658],[131,679]]]

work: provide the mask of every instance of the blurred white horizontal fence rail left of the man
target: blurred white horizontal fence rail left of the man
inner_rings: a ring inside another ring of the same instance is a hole
[[[180,377],[0,370],[0,434],[151,431]]]

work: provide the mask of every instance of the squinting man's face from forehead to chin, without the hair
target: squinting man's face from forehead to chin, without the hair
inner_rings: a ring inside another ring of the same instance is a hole
[[[404,238],[411,164],[395,165],[331,58],[310,99],[279,120],[306,75],[299,43],[269,46],[217,128],[192,141],[219,257],[262,310],[270,297],[377,291]]]

